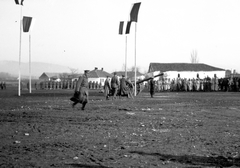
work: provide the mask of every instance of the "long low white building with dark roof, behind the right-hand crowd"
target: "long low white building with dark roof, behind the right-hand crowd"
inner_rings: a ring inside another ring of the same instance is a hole
[[[150,63],[148,72],[161,71],[164,77],[173,78],[205,78],[214,77],[224,78],[226,71],[221,68],[213,67],[202,63]]]

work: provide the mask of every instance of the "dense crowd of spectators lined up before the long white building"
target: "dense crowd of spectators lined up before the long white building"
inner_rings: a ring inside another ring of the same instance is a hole
[[[155,90],[161,91],[240,91],[240,78],[162,78],[155,81]]]

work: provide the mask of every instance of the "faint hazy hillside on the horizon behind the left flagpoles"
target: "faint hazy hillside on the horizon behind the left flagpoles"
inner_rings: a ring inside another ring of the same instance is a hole
[[[13,76],[18,76],[19,63],[17,61],[0,61],[0,72],[6,72]],[[62,65],[42,63],[42,62],[32,62],[31,64],[31,74],[32,77],[38,78],[43,72],[70,72],[70,68]],[[29,63],[21,63],[21,75],[29,75]]]

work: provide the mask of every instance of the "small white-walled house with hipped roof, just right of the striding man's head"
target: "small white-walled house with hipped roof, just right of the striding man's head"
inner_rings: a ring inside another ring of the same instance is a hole
[[[98,84],[101,83],[103,86],[107,76],[112,77],[112,74],[104,71],[103,68],[99,70],[97,67],[95,67],[94,70],[88,73],[88,82],[97,82]]]

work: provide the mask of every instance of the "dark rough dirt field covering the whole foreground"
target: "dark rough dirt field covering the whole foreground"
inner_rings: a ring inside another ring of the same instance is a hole
[[[0,167],[240,167],[239,92],[72,94],[0,90]]]

